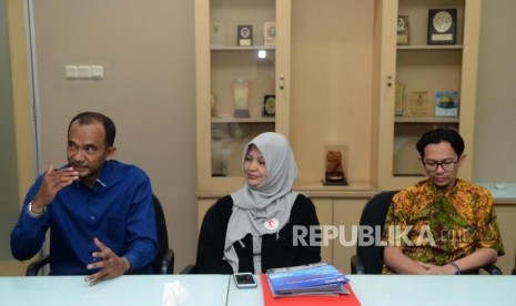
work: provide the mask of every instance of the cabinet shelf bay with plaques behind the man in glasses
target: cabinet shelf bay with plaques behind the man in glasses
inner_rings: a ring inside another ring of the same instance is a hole
[[[415,143],[423,133],[435,128],[459,129],[457,103],[463,65],[464,0],[422,2],[398,2],[397,24],[404,23],[408,38],[397,40],[394,84],[393,175],[402,177],[425,175],[415,152]],[[455,33],[448,35],[449,41],[428,42],[432,24],[428,19],[433,10],[456,12]],[[444,101],[436,100],[443,94],[449,98],[449,103],[439,108]]]

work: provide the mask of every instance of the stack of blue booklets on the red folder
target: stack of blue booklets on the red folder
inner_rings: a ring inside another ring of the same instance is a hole
[[[350,294],[344,286],[350,279],[327,263],[272,268],[265,275],[275,297]]]

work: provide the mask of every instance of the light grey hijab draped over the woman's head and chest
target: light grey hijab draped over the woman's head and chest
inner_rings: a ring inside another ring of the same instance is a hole
[[[297,178],[297,165],[285,136],[273,132],[257,135],[245,145],[242,165],[251,144],[262,153],[267,178],[254,187],[245,183],[244,187],[231,194],[233,212],[227,223],[224,259],[234,273],[239,272],[239,257],[233,244],[247,234],[262,236],[280,232],[289,222],[291,208],[297,196],[297,193],[292,191]]]

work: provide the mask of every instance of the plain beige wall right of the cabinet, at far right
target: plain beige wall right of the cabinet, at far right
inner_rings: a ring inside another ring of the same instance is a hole
[[[474,180],[516,182],[516,1],[482,8]]]

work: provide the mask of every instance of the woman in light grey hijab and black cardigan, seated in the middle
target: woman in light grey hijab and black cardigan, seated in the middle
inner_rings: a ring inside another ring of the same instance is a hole
[[[220,198],[204,216],[198,272],[260,273],[320,262],[318,245],[295,241],[299,226],[310,233],[320,224],[312,201],[292,191],[297,166],[285,136],[257,135],[245,145],[242,165],[245,185]],[[304,241],[310,243],[310,237]]]

